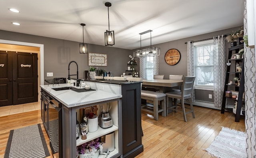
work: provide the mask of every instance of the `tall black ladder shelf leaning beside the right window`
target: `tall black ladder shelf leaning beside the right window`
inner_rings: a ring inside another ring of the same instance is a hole
[[[235,121],[240,121],[240,115],[244,115],[244,112],[241,113],[242,105],[244,104],[243,94],[244,94],[244,60],[241,59],[231,59],[233,55],[236,55],[240,49],[244,47],[243,44],[237,45],[235,47],[231,47],[228,49],[228,60],[231,63],[230,66],[227,66],[226,70],[226,80],[223,92],[223,99],[222,99],[222,106],[221,106],[221,113],[224,111],[229,111],[235,114]],[[242,71],[237,72],[236,64],[242,66]],[[230,67],[232,69],[230,70]],[[236,81],[233,80],[234,77],[240,78],[240,86],[236,84]],[[232,80],[232,84],[228,84],[229,81]],[[226,91],[238,92],[238,100],[232,98],[232,96],[226,96]],[[232,104],[230,104],[232,103]],[[237,106],[236,106],[237,104]]]

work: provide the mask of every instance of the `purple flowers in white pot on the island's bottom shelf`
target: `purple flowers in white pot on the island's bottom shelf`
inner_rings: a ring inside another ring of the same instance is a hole
[[[80,158],[98,158],[100,150],[102,150],[100,138],[96,138],[79,146],[76,146],[76,151]]]

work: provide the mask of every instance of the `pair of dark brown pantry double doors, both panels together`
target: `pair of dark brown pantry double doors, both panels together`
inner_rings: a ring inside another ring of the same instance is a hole
[[[36,53],[0,51],[0,106],[38,101]]]

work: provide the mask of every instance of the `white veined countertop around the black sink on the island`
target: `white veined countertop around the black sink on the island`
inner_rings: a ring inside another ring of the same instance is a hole
[[[66,107],[76,107],[79,105],[86,105],[91,103],[97,103],[101,101],[107,101],[111,99],[118,99],[122,98],[122,95],[119,92],[111,92],[111,91],[104,91],[104,90],[98,90],[97,87],[94,87],[91,85],[91,88],[95,91],[89,91],[89,92],[75,92],[73,90],[60,90],[56,91],[52,88],[60,88],[60,87],[74,87],[74,88],[80,88],[76,86],[71,86],[68,84],[54,84],[53,85],[41,85],[42,89],[44,89],[46,92],[48,92],[51,96],[53,96],[55,99],[58,99],[62,104],[64,104]]]

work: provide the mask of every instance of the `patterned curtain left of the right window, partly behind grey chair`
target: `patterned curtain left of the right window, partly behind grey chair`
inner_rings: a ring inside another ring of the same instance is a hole
[[[188,41],[188,76],[195,76],[194,74],[194,44]],[[195,90],[192,92],[192,102],[195,102]]]

